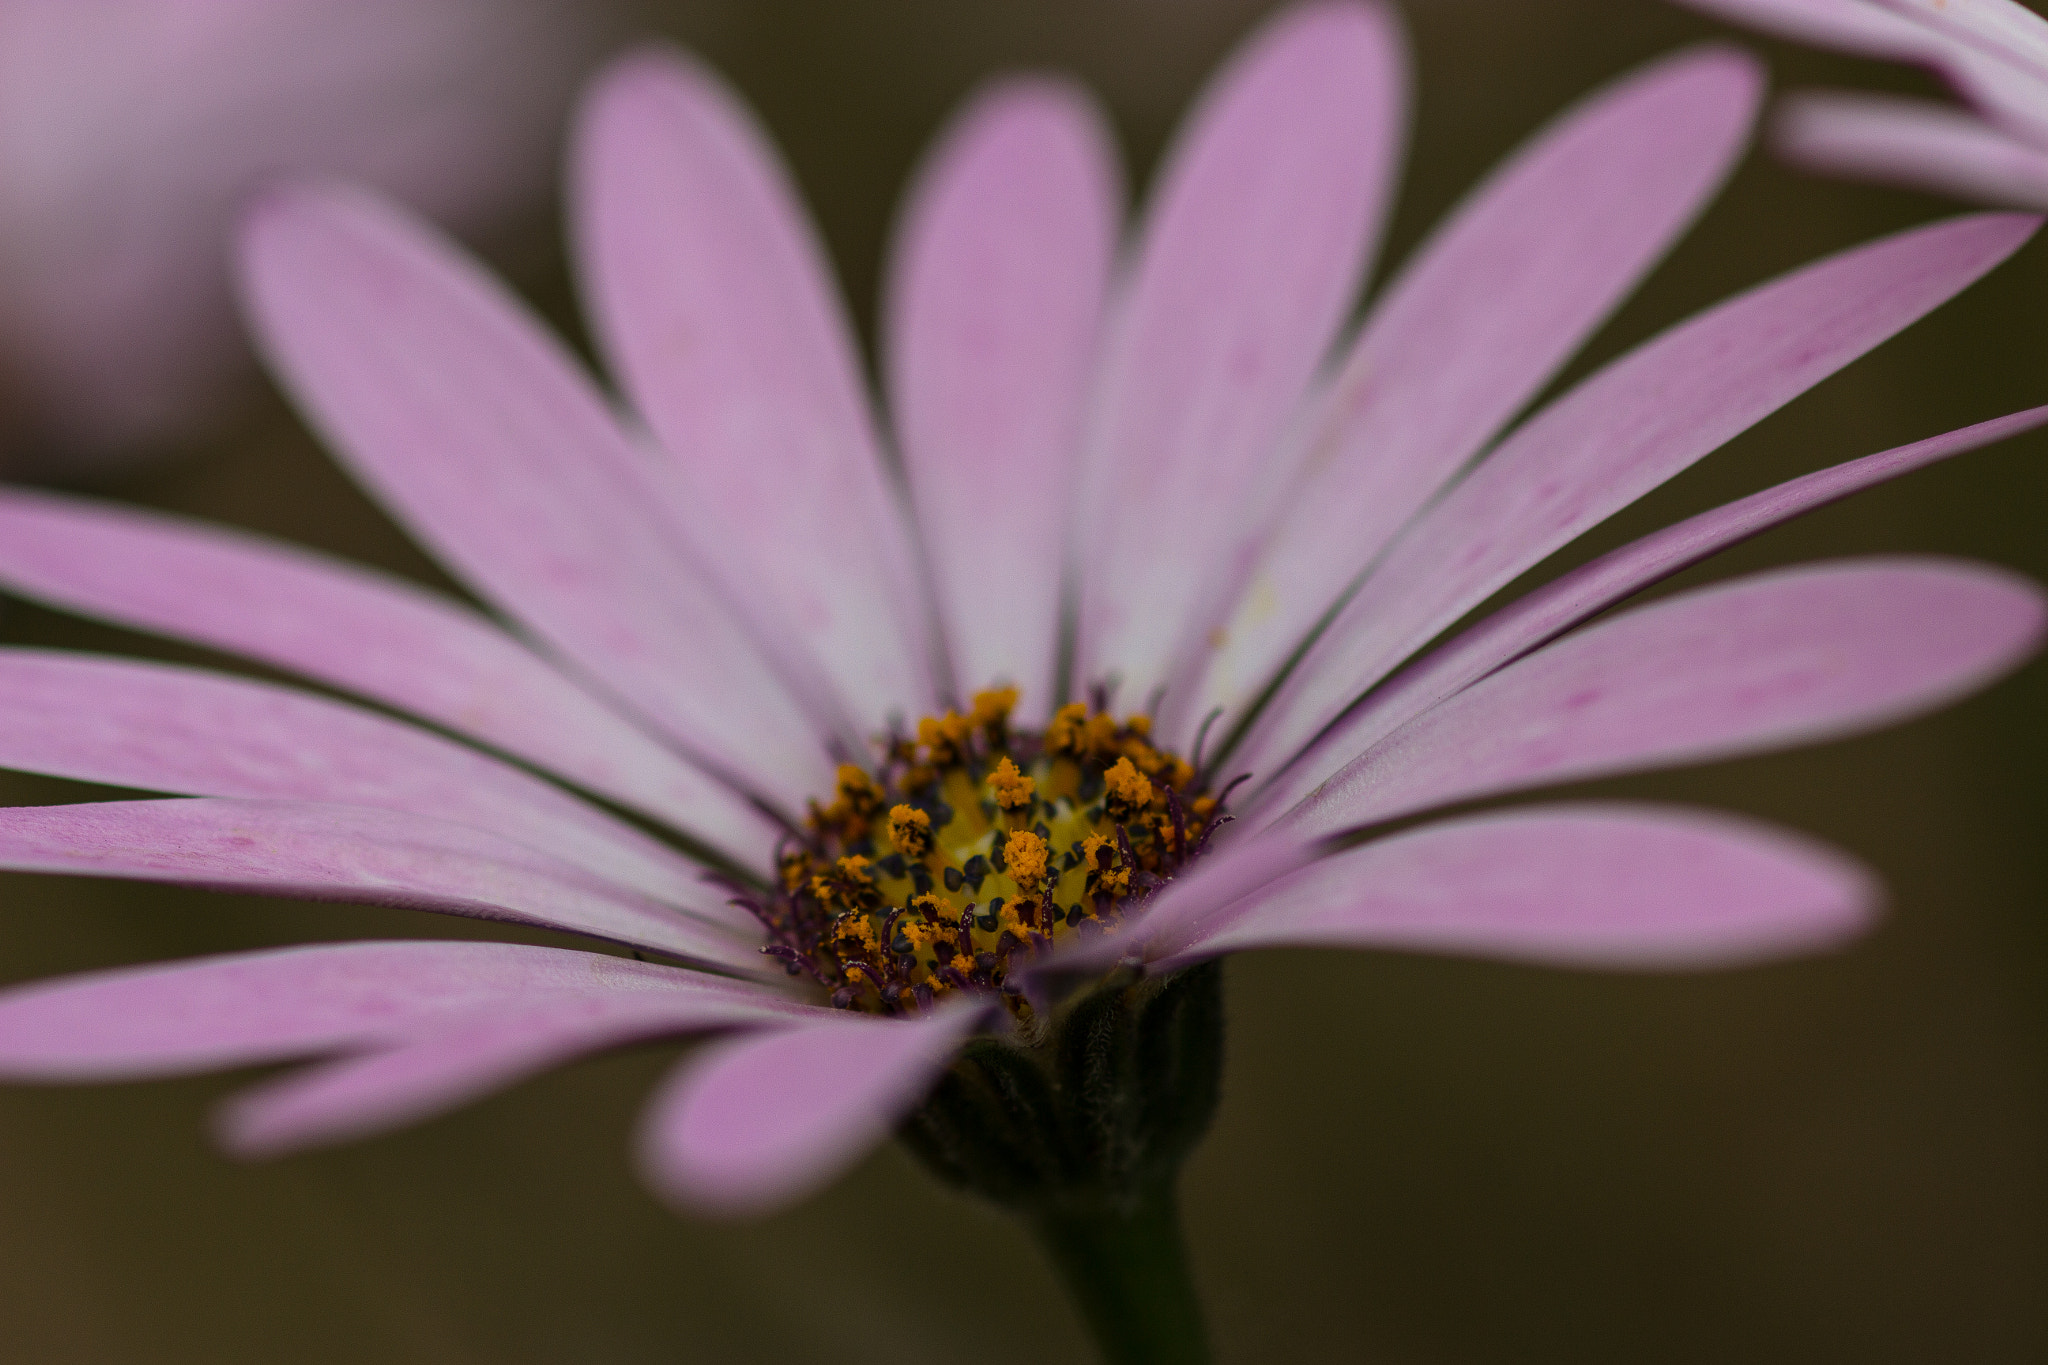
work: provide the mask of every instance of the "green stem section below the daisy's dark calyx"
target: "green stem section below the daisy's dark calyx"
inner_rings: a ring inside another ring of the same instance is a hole
[[[1208,1332],[1180,1236],[1174,1183],[1135,1199],[1061,1203],[1030,1218],[1108,1365],[1206,1365]]]

